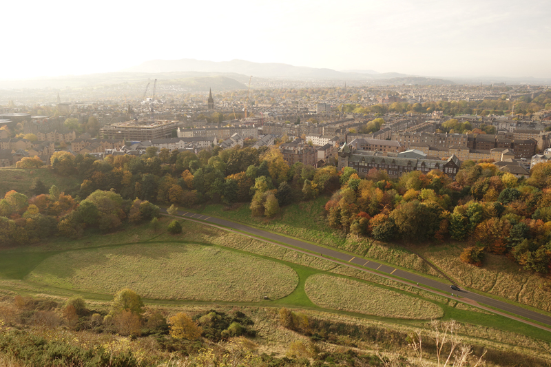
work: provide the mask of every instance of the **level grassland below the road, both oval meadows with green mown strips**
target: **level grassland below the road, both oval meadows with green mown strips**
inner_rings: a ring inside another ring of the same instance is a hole
[[[165,227],[167,219],[161,223]],[[479,312],[374,274],[362,273],[360,279],[353,278],[360,272],[194,222],[183,221],[183,229],[182,235],[173,236],[155,233],[145,224],[112,235],[90,234],[79,241],[59,239],[3,250],[0,287],[11,294],[46,293],[58,297],[80,294],[101,301],[109,300],[117,289],[129,286],[144,292],[149,304],[181,306],[214,301],[249,307],[287,306],[404,326],[423,326],[423,320],[438,315],[496,333],[501,329],[551,342],[550,333],[532,326]],[[316,305],[320,303],[319,297],[311,295],[311,300],[305,291],[312,275],[336,278],[322,285],[325,293],[342,292],[344,282],[351,294],[357,292],[362,296],[362,302],[358,303],[355,297],[331,297],[330,303]],[[223,285],[225,282],[228,286]],[[233,289],[240,290],[240,300],[236,300]],[[391,297],[391,293],[397,294]],[[260,300],[264,295],[271,300]],[[435,312],[429,315],[423,308],[412,307],[404,315],[404,305],[408,304],[430,304]]]

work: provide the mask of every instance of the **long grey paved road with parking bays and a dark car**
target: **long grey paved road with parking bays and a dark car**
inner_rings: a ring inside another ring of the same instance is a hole
[[[271,233],[268,231],[263,231],[262,229],[257,229],[254,227],[249,227],[245,224],[232,222],[231,220],[225,220],[220,218],[213,218],[208,215],[204,214],[198,214],[198,213],[192,213],[187,211],[179,211],[178,214],[180,216],[184,216],[185,218],[193,218],[196,220],[202,220],[203,222],[211,223],[211,224],[217,224],[223,227],[229,227],[232,229],[237,229],[238,231],[243,231],[250,233],[251,235],[255,235],[262,238],[267,238],[269,240],[275,241],[275,242],[281,242],[284,244],[289,244],[292,247],[298,247],[299,249],[304,249],[306,251],[310,251],[313,253],[319,253],[324,256],[330,256],[331,258],[335,258],[338,260],[342,260],[342,262],[347,262],[354,265],[364,266],[368,269],[373,269],[376,271],[380,271],[382,273],[387,273],[391,275],[395,275],[397,277],[402,277],[403,279],[409,280],[410,282],[424,284],[425,286],[430,286],[434,289],[438,289],[442,293],[446,293],[448,295],[451,295],[451,293],[457,294],[456,291],[452,291],[450,289],[449,284],[445,284],[442,282],[438,282],[437,280],[433,280],[427,277],[423,277],[422,275],[417,275],[415,273],[410,273],[408,271],[404,271],[401,269],[396,269],[393,266],[388,266],[385,264],[381,264],[379,262],[375,262],[372,260],[366,260],[363,258],[356,258],[353,255],[349,255],[346,253],[342,253],[337,250],[333,249],[326,249],[325,247],[320,247],[315,244],[311,244],[308,242],[304,242],[301,240],[296,240],[294,238],[285,237],[283,235],[278,235],[275,233]],[[509,304],[507,302],[502,302],[499,300],[495,300],[494,298],[486,297],[485,295],[479,295],[478,293],[472,293],[469,291],[461,290],[459,292],[459,295],[461,297],[467,298],[469,300],[479,302],[481,304],[486,304],[488,306],[492,306],[495,308],[499,308],[500,310],[507,311],[509,313],[513,313],[515,315],[519,315],[522,317],[526,317],[528,319],[535,320],[537,322],[541,322],[543,324],[547,324],[551,326],[551,317],[542,315],[541,313],[537,313],[534,311],[527,310],[526,308],[522,308],[519,306],[514,306],[513,304]],[[547,329],[546,329],[547,330]]]

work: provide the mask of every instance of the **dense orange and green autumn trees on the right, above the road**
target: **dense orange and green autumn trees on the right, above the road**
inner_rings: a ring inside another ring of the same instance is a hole
[[[465,241],[461,260],[471,264],[489,251],[529,271],[551,269],[550,162],[528,179],[485,160],[464,162],[455,180],[438,170],[391,180],[377,169],[362,179],[345,167],[340,184],[325,205],[331,227],[382,242]]]

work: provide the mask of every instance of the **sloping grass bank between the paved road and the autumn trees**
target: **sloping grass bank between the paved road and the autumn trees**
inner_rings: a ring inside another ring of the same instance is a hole
[[[207,205],[199,212],[344,249],[419,273],[436,275],[434,269],[404,247],[377,241],[368,243],[364,239],[357,240],[355,235],[345,236],[344,233],[331,229],[322,216],[326,200],[327,198],[321,197],[311,202],[289,205],[273,220],[252,218],[246,204],[232,211],[225,209],[223,205]],[[467,246],[464,243],[435,242],[410,246],[461,286],[486,292],[509,302],[518,302],[527,308],[551,311],[551,281],[547,277],[519,269],[518,264],[504,256],[488,254],[484,265],[478,268],[459,260],[461,250]]]

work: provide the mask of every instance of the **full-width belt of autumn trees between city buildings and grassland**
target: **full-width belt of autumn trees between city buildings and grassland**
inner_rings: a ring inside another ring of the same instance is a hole
[[[1,226],[8,228],[3,233],[12,233],[4,238],[47,238],[52,228],[69,237],[79,237],[86,227],[110,231],[123,220],[154,218],[158,208],[152,202],[247,203],[253,216],[273,218],[293,202],[327,195],[326,220],[344,233],[380,241],[466,241],[470,246],[461,255],[466,262],[481,264],[490,251],[530,271],[550,269],[551,163],[536,165],[528,179],[490,160],[464,162],[455,180],[438,170],[391,179],[371,169],[360,178],[351,167],[289,166],[277,147],[215,147],[198,154],[148,147],[143,156],[104,160],[60,151],[52,156],[52,169],[78,176],[81,185],[66,194],[54,188],[42,193],[45,188],[35,185],[31,198],[10,191],[0,200]],[[22,233],[27,237],[19,238]]]

